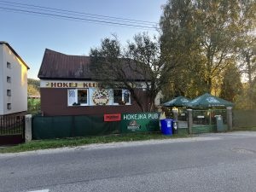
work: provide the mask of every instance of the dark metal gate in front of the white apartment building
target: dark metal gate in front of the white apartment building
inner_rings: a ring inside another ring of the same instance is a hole
[[[0,145],[25,142],[25,116],[0,116]]]

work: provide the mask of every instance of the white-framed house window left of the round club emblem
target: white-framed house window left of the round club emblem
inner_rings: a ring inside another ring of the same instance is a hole
[[[70,89],[67,93],[68,106],[88,105],[88,89]]]

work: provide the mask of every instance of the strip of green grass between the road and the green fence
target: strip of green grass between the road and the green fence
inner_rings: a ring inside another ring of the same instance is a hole
[[[173,135],[172,137],[164,136],[160,133],[134,133],[123,135],[111,135],[104,137],[75,137],[54,140],[35,140],[30,143],[22,143],[12,147],[0,148],[0,153],[17,153],[47,148],[76,147],[92,143],[132,142],[150,139],[172,139],[177,137],[189,137],[189,135],[185,132]]]

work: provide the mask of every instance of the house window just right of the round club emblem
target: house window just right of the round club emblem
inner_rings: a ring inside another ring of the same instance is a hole
[[[129,90],[113,90],[113,104],[131,104],[131,94]]]

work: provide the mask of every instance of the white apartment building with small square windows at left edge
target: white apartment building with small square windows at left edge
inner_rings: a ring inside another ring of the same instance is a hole
[[[0,41],[0,115],[26,112],[28,69],[15,49]]]

